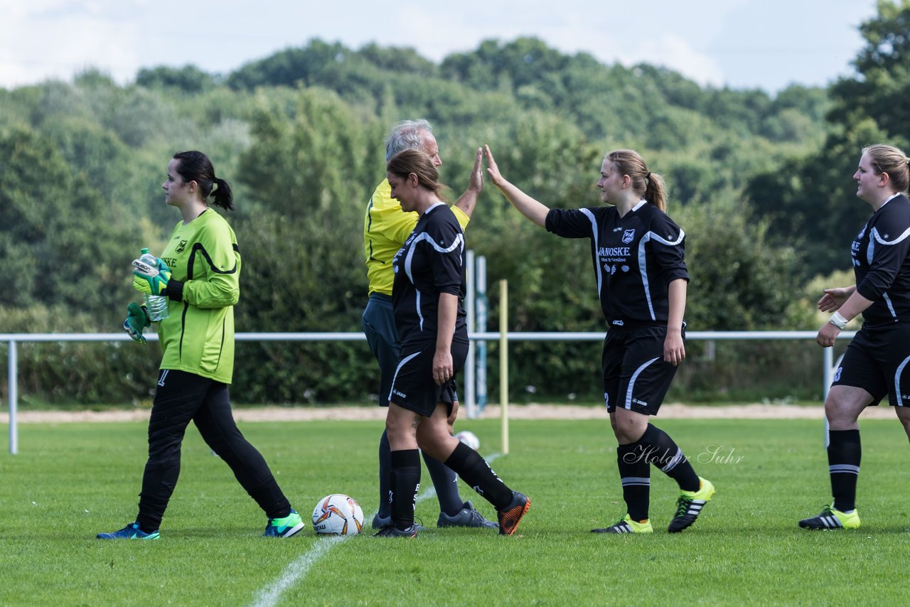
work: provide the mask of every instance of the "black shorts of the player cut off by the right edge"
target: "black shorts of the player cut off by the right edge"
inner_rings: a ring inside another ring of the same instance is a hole
[[[862,388],[870,406],[888,395],[892,407],[910,406],[910,324],[860,329],[847,346],[832,386]]]

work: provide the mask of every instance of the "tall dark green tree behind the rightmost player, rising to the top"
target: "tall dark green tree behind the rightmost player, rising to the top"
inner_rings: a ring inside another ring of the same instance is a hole
[[[905,103],[910,2],[880,0],[877,6],[878,14],[859,28],[865,46],[854,60],[856,74],[830,89],[832,109],[821,149],[785,159],[779,168],[753,176],[746,188],[754,207],[771,219],[773,237],[804,249],[804,276],[844,267],[846,247],[869,217],[852,178],[862,148],[874,143],[906,148],[910,141],[904,134],[910,116]],[[804,108],[792,96],[786,101]]]

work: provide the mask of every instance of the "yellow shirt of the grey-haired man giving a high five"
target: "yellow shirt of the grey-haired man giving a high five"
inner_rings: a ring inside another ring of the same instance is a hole
[[[367,258],[369,294],[392,294],[392,258],[408,239],[417,225],[418,215],[401,210],[399,201],[391,197],[389,179],[383,179],[369,198],[367,214],[363,218],[363,253]],[[451,207],[461,226],[468,227],[470,218],[459,207]]]

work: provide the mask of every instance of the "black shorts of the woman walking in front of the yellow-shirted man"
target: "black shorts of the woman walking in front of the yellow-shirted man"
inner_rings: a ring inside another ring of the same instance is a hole
[[[453,340],[451,353],[455,373],[452,374],[452,379],[437,386],[433,379],[436,339],[406,341],[402,344],[401,360],[392,379],[389,401],[425,417],[430,417],[436,410],[436,405],[444,402],[448,405],[447,413],[451,414],[452,403],[458,400],[455,376],[464,369],[464,361],[468,358],[468,342]]]

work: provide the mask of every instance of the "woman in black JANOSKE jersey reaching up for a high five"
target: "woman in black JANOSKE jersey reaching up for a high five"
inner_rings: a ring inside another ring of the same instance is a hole
[[[590,238],[603,315],[603,396],[616,449],[627,513],[598,533],[650,533],[648,510],[654,464],[675,480],[681,496],[671,533],[691,525],[714,487],[695,474],[682,450],[649,423],[657,415],[676,365],[685,358],[686,273],[682,232],[663,212],[664,187],[637,152],[607,154],[601,199],[608,207],[551,209],[500,174],[486,147],[490,180],[532,222],[564,238]]]

